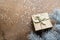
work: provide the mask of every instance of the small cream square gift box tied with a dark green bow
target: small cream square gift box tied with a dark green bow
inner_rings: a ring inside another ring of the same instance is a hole
[[[32,15],[35,31],[43,30],[52,27],[48,13],[40,13]]]

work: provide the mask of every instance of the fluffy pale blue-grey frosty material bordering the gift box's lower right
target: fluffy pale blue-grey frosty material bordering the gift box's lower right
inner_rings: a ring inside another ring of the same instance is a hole
[[[39,31],[39,35],[36,35],[36,33],[31,32],[28,35],[28,38],[30,40],[60,40],[60,9],[55,9],[53,14],[50,14],[50,18],[56,21],[56,24],[53,26],[52,29],[48,29],[45,31]]]

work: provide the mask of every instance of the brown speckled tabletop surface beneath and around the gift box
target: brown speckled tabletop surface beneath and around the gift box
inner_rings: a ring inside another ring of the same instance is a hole
[[[27,34],[31,31],[31,15],[51,12],[60,7],[59,3],[60,0],[0,0],[0,28],[4,38],[27,40]]]

